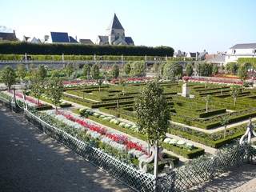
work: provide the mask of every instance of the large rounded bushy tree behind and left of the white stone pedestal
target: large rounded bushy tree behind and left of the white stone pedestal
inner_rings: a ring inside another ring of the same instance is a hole
[[[182,66],[178,62],[166,62],[163,67],[163,77],[174,80],[182,77]]]

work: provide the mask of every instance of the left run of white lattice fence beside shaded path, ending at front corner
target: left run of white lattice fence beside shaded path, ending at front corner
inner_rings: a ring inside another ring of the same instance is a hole
[[[62,142],[83,158],[93,162],[94,165],[101,167],[115,178],[118,178],[118,180],[126,183],[127,186],[142,192],[155,191],[155,178],[152,174],[144,174],[139,170],[134,169],[134,167],[121,162],[102,150],[90,146],[89,143],[81,142],[70,134],[66,134],[66,132],[59,130],[54,126],[50,126],[48,123],[42,121],[28,111],[25,111],[25,115],[26,118],[37,123],[39,128],[50,135],[50,137]]]

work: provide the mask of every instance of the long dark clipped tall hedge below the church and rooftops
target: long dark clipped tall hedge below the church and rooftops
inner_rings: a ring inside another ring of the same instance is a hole
[[[2,42],[0,54],[74,54],[74,55],[150,55],[172,57],[169,46],[98,46],[80,44],[32,44],[27,42]]]

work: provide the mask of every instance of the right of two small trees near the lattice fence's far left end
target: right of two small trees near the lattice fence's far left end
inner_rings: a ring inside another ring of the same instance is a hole
[[[47,97],[54,103],[55,110],[58,110],[58,104],[61,102],[63,95],[63,83],[60,78],[50,78],[47,82]]]

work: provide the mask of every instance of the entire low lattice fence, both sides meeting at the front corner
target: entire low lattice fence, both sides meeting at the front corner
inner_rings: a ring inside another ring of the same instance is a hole
[[[6,103],[6,106],[12,106],[12,109],[15,107],[14,103],[11,103],[5,98],[0,97],[0,101]],[[256,161],[256,150],[254,148],[237,144],[226,150],[218,150],[210,158],[203,156],[191,160],[189,164],[175,169],[170,174],[163,174],[158,178],[158,182],[156,182],[152,174],[144,174],[140,170],[106,154],[102,150],[90,146],[89,143],[79,141],[65,131],[42,121],[27,110],[24,110],[24,114],[28,120],[38,125],[38,128],[50,135],[50,137],[62,142],[82,156],[82,158],[86,158],[95,166],[106,170],[135,191],[186,191],[219,174],[232,170],[234,167],[241,166],[246,162]]]

